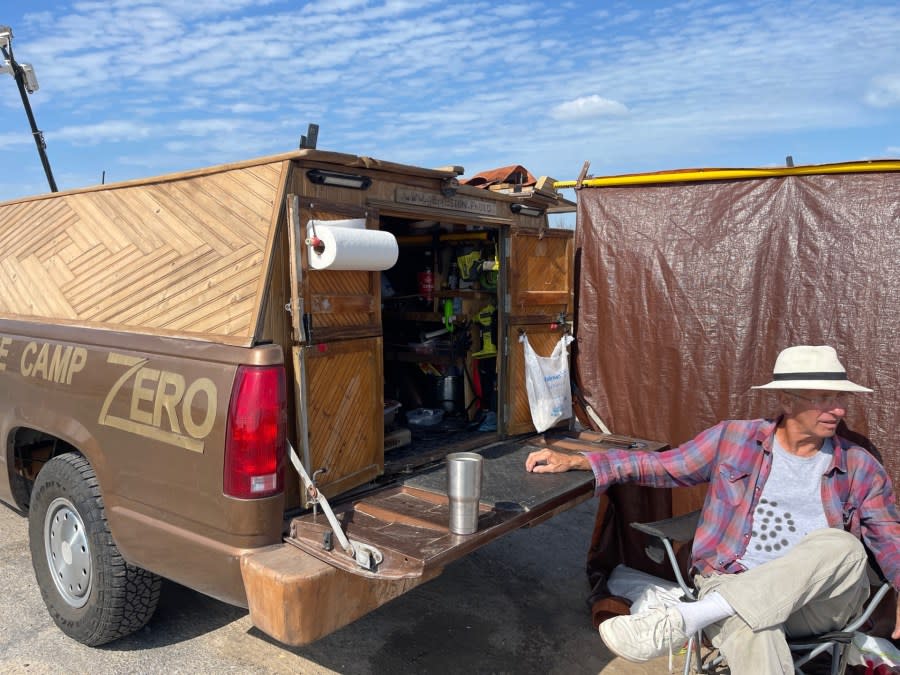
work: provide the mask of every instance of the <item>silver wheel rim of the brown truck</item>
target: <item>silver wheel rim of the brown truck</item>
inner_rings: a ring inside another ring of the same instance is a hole
[[[84,521],[68,499],[57,497],[44,518],[44,551],[56,590],[71,607],[84,607],[91,593],[91,549]]]

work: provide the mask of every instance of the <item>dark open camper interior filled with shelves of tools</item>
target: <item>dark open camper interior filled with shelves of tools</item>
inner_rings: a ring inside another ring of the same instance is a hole
[[[396,216],[379,226],[399,247],[380,284],[384,396],[401,405],[385,462],[483,445],[498,432],[501,229]]]

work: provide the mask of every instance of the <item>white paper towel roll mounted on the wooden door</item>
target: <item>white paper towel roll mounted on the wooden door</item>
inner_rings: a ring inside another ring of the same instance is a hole
[[[314,270],[386,270],[394,266],[400,251],[390,232],[354,227],[316,225],[321,252],[309,247],[309,266]]]

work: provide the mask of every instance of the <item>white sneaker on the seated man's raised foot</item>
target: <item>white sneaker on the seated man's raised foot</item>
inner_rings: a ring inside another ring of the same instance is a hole
[[[600,624],[600,637],[616,656],[643,663],[680,649],[687,642],[684,619],[674,607],[654,607],[640,614],[607,619]]]

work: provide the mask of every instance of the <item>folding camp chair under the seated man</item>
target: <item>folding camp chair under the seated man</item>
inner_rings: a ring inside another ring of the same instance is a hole
[[[697,599],[697,591],[689,584],[682,574],[681,567],[675,556],[673,543],[689,543],[694,538],[694,531],[697,529],[697,521],[700,519],[700,511],[693,511],[681,516],[667,518],[665,520],[657,520],[652,523],[631,523],[631,526],[645,534],[655,537],[659,544],[662,545],[663,551],[672,566],[672,572],[675,580],[684,591],[684,597],[687,601]],[[647,547],[647,555],[652,560],[660,561],[662,559],[662,551],[659,550],[659,544],[653,542]],[[859,630],[866,621],[871,617],[872,612],[878,607],[878,604],[890,590],[890,584],[884,580],[878,570],[877,565],[871,560],[871,570],[878,576],[881,585],[878,590],[870,596],[863,608],[862,614],[844,626],[839,631],[832,631],[822,635],[815,635],[802,640],[791,640],[788,646],[797,656],[794,659],[794,671],[799,675],[804,675],[803,666],[808,664],[819,654],[830,652],[831,654],[831,675],[844,675],[847,669],[847,657],[850,653],[850,643],[853,641],[853,633]],[[722,667],[724,659],[721,655],[716,656],[704,662],[701,655],[701,647],[703,645],[703,634],[698,631],[696,635],[692,635],[688,640],[687,653],[684,660],[684,675],[691,672],[692,662],[696,662],[695,672],[712,673]]]

